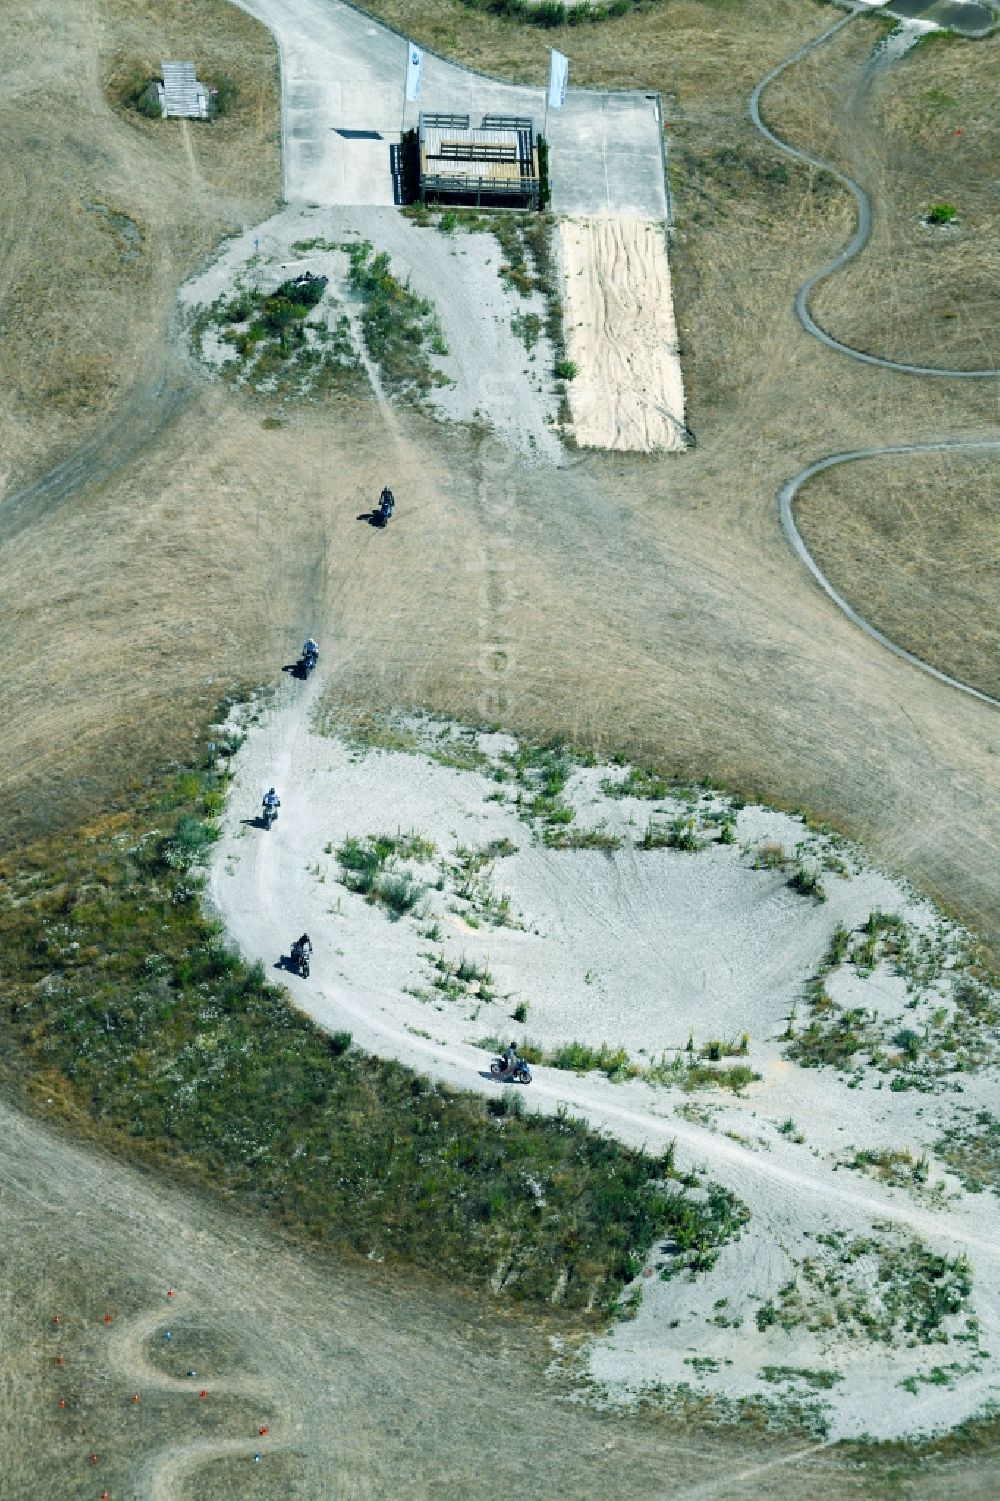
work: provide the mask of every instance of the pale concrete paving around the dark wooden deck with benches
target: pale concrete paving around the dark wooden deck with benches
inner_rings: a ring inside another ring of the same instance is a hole
[[[542,89],[497,83],[429,53],[420,102],[404,107],[405,41],[338,0],[237,3],[270,27],[281,48],[290,203],[393,203],[390,149],[416,126],[420,108],[473,120],[530,114],[542,125]],[[569,98],[550,111],[547,134],[556,213],[667,218],[653,96],[572,89],[571,59]]]

